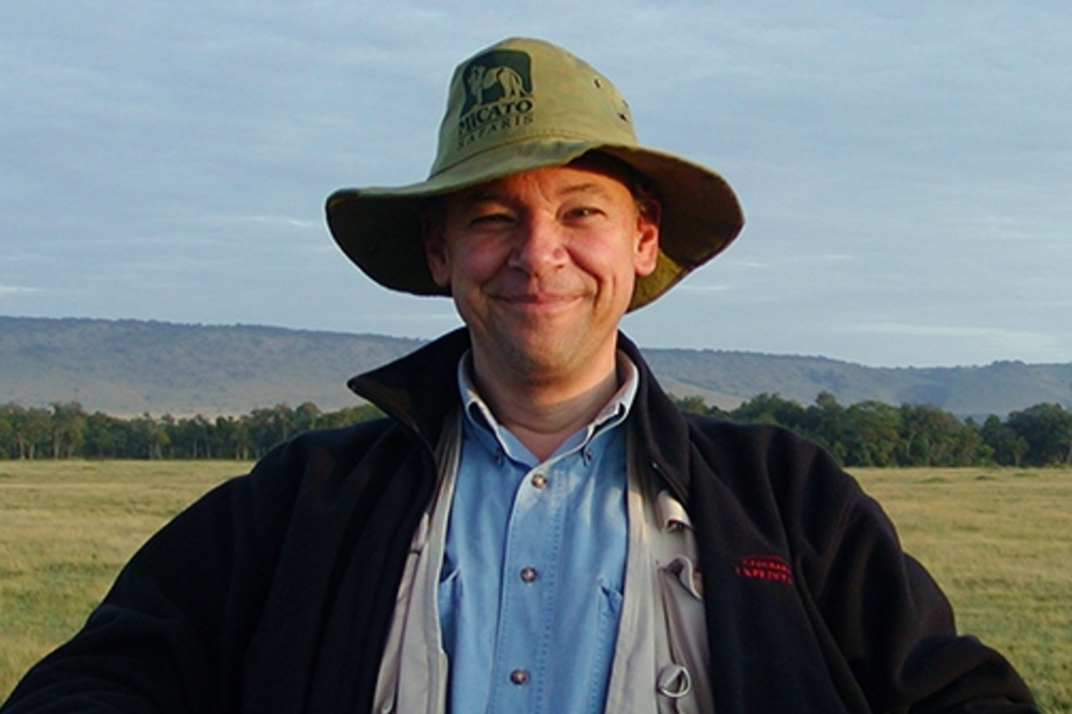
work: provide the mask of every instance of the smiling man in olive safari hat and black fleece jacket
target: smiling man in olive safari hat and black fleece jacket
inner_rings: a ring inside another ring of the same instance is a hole
[[[5,711],[1034,711],[828,455],[681,413],[617,332],[743,223],[631,123],[542,42],[459,66],[429,180],[327,212],[465,329],[176,518]]]

